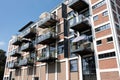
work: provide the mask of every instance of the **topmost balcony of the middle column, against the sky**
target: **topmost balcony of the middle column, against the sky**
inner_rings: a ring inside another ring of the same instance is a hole
[[[45,12],[40,16],[38,26],[40,28],[50,28],[55,26],[56,22],[57,22],[57,17],[55,14]]]

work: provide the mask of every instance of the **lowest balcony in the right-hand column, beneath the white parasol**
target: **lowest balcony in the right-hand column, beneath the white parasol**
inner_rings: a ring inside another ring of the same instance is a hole
[[[74,43],[72,46],[72,53],[79,54],[81,56],[92,54],[94,52],[93,43],[92,42],[84,42],[84,43]]]

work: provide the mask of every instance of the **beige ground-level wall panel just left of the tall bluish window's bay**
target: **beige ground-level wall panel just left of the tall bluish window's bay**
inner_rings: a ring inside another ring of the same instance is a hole
[[[66,80],[65,62],[58,63],[58,80]]]

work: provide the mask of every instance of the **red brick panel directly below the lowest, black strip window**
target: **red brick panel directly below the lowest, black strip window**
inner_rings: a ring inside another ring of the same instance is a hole
[[[99,60],[99,67],[100,69],[117,68],[116,58]]]

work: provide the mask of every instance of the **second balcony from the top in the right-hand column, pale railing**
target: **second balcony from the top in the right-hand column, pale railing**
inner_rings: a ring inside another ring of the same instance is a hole
[[[84,31],[91,28],[89,18],[79,15],[69,20],[69,27],[76,31]]]

